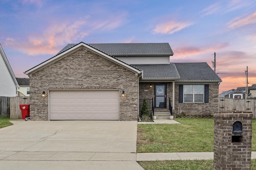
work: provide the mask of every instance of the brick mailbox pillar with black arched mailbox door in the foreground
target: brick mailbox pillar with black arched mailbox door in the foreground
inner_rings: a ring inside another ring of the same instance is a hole
[[[214,114],[214,170],[250,170],[252,112]]]

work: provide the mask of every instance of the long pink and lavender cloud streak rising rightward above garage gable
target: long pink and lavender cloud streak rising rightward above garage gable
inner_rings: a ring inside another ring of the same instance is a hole
[[[109,30],[121,26],[126,20],[126,14],[107,16],[95,20],[91,16],[79,18],[76,21],[52,22],[43,32],[31,33],[27,41],[6,38],[5,45],[13,47],[29,55],[56,54],[68,43],[77,43],[97,29]]]

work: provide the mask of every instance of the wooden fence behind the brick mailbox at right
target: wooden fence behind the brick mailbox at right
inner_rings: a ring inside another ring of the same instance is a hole
[[[231,99],[219,98],[218,111],[252,111],[253,118],[256,118],[256,100],[255,99]]]

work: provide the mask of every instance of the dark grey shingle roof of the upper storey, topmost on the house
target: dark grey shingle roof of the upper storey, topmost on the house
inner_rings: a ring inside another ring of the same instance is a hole
[[[76,44],[68,44],[58,54],[74,47]],[[102,43],[88,44],[108,55],[173,55],[169,43]]]

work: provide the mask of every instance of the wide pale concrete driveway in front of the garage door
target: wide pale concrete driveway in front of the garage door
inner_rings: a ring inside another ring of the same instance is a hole
[[[137,121],[12,121],[0,129],[5,170],[143,170]]]

